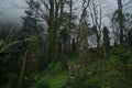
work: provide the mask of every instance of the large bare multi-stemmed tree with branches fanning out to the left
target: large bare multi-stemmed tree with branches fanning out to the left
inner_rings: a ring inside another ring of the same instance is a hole
[[[51,59],[57,58],[57,42],[58,42],[58,31],[62,23],[62,13],[64,10],[64,3],[66,0],[37,0],[38,6],[33,4],[31,10],[35,12],[42,22],[47,25],[48,32],[48,54]],[[26,0],[29,3],[30,1]]]

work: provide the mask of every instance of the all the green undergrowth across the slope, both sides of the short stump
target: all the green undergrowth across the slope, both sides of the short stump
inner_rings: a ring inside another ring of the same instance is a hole
[[[35,84],[31,88],[129,88],[131,86],[132,52],[124,53],[121,48],[108,59],[97,58],[87,67],[81,67],[76,79],[68,79],[69,70],[62,70],[59,62],[51,63],[42,75],[35,76]],[[123,52],[122,56],[118,53]],[[124,64],[121,57],[129,57]],[[68,66],[78,64],[78,59],[72,57]],[[124,82],[124,80],[127,80]]]

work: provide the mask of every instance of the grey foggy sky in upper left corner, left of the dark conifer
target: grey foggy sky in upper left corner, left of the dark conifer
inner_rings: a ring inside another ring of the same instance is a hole
[[[24,0],[0,0],[0,19],[3,22],[21,23],[25,7]]]

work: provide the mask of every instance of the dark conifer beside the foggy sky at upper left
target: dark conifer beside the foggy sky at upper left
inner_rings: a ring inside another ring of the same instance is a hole
[[[38,35],[40,33],[41,24],[38,24],[40,19],[37,15],[40,3],[33,0],[26,2],[29,4],[29,9],[25,10],[26,16],[22,18],[23,19],[22,35],[24,37],[30,37],[32,35]],[[33,11],[34,9],[36,12]]]

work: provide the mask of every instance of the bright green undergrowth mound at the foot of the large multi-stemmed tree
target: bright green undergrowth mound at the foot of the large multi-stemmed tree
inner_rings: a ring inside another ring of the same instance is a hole
[[[62,72],[61,63],[51,63],[42,75],[35,76],[35,82],[31,88],[62,88],[67,78],[67,74]]]

